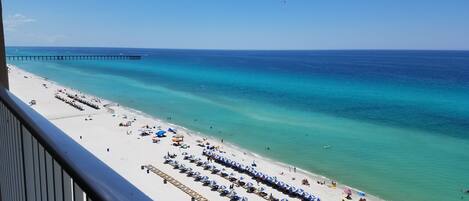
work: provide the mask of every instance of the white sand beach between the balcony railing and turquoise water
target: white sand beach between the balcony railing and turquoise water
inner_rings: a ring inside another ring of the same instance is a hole
[[[221,142],[219,139],[195,134],[196,132],[168,124],[142,112],[122,107],[117,103],[83,94],[77,90],[25,72],[16,66],[8,65],[8,67],[10,90],[16,96],[26,103],[31,103],[34,100],[35,104],[31,106],[34,110],[45,116],[77,143],[154,200],[191,200],[191,196],[170,182],[165,184],[157,174],[148,173],[147,169],[142,170],[142,165],[152,165],[158,168],[208,200],[230,200],[228,196],[220,195],[220,191],[212,190],[211,187],[203,185],[202,182],[195,181],[194,177],[189,177],[187,173],[183,173],[180,169],[175,169],[172,165],[165,163],[164,157],[168,153],[176,154],[177,156],[171,160],[177,160],[180,164],[184,164],[186,168],[191,168],[194,172],[200,172],[202,176],[208,176],[211,180],[216,181],[218,185],[228,188],[231,184],[234,184],[228,178],[221,176],[220,173],[212,174],[211,171],[204,169],[202,166],[197,166],[196,163],[183,159],[184,156],[194,155],[195,158],[201,158],[203,162],[207,161],[207,156],[202,155],[204,147],[198,145],[204,144],[206,146],[207,143],[210,146],[218,147],[218,154],[241,164],[250,166],[255,161],[257,171],[269,176],[275,176],[278,180],[296,188],[304,189],[304,191],[319,197],[321,200],[347,200],[344,190],[351,187],[344,184],[337,184],[334,187],[332,181],[328,178],[262,158],[247,150],[230,145],[229,142]],[[67,93],[76,94],[79,99],[96,104],[100,109],[94,109],[86,104],[74,101],[74,104],[84,109],[81,111],[55,97],[58,94],[65,100],[72,101]],[[120,126],[119,124],[125,125]],[[184,147],[187,146],[186,148],[173,145],[172,137],[176,134],[171,132],[166,132],[166,137],[157,138],[155,136],[155,132],[160,129],[168,131],[168,128],[174,128],[177,135],[184,136],[181,144],[184,144]],[[149,132],[150,135],[141,136],[143,131]],[[154,140],[159,140],[159,142],[154,143]],[[234,173],[235,176],[233,177],[237,179],[243,177],[246,184],[252,183],[256,192],[258,192],[258,189],[263,188],[266,197],[272,195],[279,200],[300,200],[297,197],[289,197],[287,194],[262,182],[258,183],[246,173],[237,172],[218,162],[211,162],[211,164],[221,172]],[[302,184],[304,179],[309,182],[309,185]],[[319,184],[318,181],[325,182],[325,184]],[[360,198],[380,200],[369,194],[364,197],[359,196],[359,190],[351,189],[352,195],[349,200],[359,200]],[[238,196],[245,197],[248,200],[265,200],[259,194],[247,192],[246,188],[242,186],[234,185],[233,191]]]

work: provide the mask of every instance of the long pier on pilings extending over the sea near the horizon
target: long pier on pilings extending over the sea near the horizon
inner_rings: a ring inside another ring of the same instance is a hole
[[[23,55],[6,56],[8,61],[46,61],[46,60],[140,60],[140,55]]]

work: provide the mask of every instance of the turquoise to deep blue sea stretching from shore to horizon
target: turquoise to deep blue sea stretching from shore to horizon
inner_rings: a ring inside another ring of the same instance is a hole
[[[7,54],[143,55],[11,63],[384,199],[469,199],[469,51]]]

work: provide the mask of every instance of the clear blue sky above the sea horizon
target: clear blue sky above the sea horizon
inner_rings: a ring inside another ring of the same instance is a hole
[[[468,0],[4,0],[7,46],[469,49]]]

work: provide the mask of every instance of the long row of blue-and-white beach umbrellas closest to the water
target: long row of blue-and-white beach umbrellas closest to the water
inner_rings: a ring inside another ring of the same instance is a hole
[[[275,176],[272,177],[263,172],[257,171],[256,168],[252,166],[243,165],[227,157],[221,156],[215,151],[204,149],[202,153],[206,156],[212,157],[217,163],[220,163],[226,167],[230,167],[238,172],[246,173],[256,180],[259,180],[266,185],[272,186],[284,193],[287,193],[290,196],[298,197],[306,201],[320,201],[319,197],[316,197],[301,188],[280,181]]]

